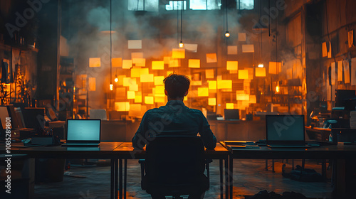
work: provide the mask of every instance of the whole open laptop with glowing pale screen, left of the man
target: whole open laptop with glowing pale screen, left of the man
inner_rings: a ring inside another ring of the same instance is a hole
[[[67,141],[62,146],[99,146],[101,119],[67,119]]]

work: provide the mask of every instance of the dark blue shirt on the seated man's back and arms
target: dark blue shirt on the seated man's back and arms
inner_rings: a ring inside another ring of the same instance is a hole
[[[182,101],[171,100],[165,106],[150,109],[144,114],[132,138],[132,145],[142,149],[156,136],[197,136],[198,133],[206,149],[215,148],[216,137],[204,114],[198,109],[189,109]]]

